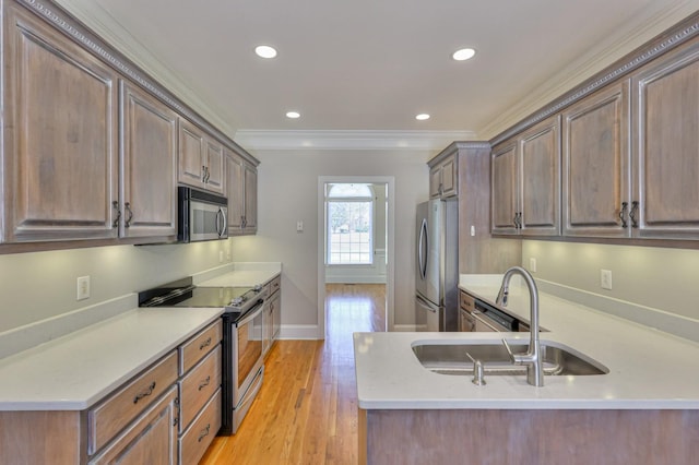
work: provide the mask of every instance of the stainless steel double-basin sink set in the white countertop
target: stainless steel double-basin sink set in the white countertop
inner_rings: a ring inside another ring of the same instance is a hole
[[[526,341],[508,341],[513,354],[526,353]],[[545,375],[606,374],[609,370],[592,358],[564,344],[541,341]],[[473,374],[473,360],[481,360],[484,374],[523,374],[526,367],[516,366],[500,342],[460,341],[436,344],[416,342],[413,353],[426,369],[440,374]]]

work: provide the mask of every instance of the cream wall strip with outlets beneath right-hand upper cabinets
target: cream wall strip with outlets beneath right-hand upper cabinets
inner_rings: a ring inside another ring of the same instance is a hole
[[[524,240],[535,278],[699,320],[699,250]],[[612,271],[612,290],[600,286]]]

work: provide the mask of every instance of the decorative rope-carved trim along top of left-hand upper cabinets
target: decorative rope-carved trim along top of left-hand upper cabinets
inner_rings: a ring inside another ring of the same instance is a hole
[[[151,92],[157,98],[170,106],[174,110],[180,112],[182,116],[189,118],[196,122],[205,131],[214,134],[218,140],[224,142],[230,148],[235,150],[240,156],[247,158],[250,163],[258,166],[260,162],[250,155],[245,148],[238,145],[235,141],[221,132],[218,129],[209,123],[205,119],[199,116],[196,111],[191,110],[183,103],[173,96],[167,90],[157,85],[152,80],[146,79],[142,71],[138,69],[129,60],[121,56],[114,49],[107,47],[106,44],[99,44],[96,37],[91,37],[92,33],[83,31],[83,27],[79,26],[69,13],[67,13],[59,5],[44,2],[42,0],[15,0],[17,3],[24,4],[29,10],[34,11],[37,15],[44,17],[57,28],[61,29],[73,40],[91,50],[94,55],[102,58],[106,63],[110,64],[115,70],[121,72],[125,76],[130,78],[143,88]]]

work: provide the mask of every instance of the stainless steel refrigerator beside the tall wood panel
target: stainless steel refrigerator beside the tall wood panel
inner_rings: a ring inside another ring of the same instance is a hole
[[[417,331],[459,331],[459,201],[417,205]]]

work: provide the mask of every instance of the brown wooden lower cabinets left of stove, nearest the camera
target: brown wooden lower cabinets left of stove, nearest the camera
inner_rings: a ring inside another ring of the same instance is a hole
[[[221,428],[221,335],[216,320],[87,410],[0,412],[0,464],[198,463]]]

